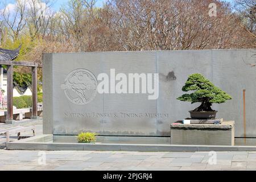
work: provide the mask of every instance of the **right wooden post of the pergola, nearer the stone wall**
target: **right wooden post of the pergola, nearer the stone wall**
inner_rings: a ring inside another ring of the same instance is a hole
[[[38,119],[38,68],[32,67],[32,117]]]

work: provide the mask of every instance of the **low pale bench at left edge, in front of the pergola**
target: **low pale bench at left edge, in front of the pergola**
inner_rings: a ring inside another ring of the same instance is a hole
[[[0,135],[6,135],[6,143],[10,142],[10,134],[18,134],[18,140],[20,140],[20,133],[24,131],[32,130],[33,136],[35,137],[35,127],[23,127],[23,126],[16,126],[9,129],[2,129],[0,130]]]

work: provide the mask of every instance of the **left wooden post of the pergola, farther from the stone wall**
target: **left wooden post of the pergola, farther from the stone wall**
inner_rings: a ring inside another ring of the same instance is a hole
[[[7,115],[6,123],[13,123],[13,64],[7,65]]]

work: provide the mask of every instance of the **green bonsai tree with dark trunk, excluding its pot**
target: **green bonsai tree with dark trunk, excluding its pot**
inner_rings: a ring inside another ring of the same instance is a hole
[[[195,91],[191,94],[184,94],[177,98],[180,101],[189,101],[191,104],[201,102],[201,105],[193,111],[214,111],[211,106],[213,103],[221,104],[232,97],[220,88],[215,86],[200,73],[192,74],[188,77],[182,88],[183,92]]]

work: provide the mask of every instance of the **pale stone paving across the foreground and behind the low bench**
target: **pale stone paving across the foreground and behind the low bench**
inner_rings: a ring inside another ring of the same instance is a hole
[[[34,125],[42,134],[42,120],[0,128],[16,125]],[[256,152],[7,151],[4,141],[0,170],[256,170]]]

